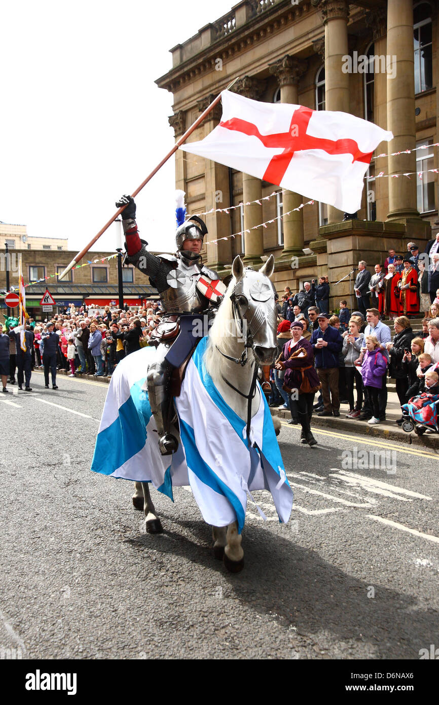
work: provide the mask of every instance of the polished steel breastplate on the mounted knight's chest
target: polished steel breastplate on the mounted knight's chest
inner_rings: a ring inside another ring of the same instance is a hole
[[[167,313],[199,313],[207,307],[206,299],[197,290],[201,271],[197,264],[187,266],[180,259],[166,276],[169,287],[160,295]]]

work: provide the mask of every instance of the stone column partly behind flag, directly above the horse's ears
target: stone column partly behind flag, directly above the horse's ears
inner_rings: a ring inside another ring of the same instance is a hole
[[[264,90],[264,82],[244,76],[233,86],[233,91],[257,100]],[[263,229],[254,228],[262,223],[262,184],[259,178],[242,174],[242,202],[244,203],[244,262],[247,265],[259,266],[262,262],[261,255],[264,255],[264,235]],[[261,204],[253,203],[260,201]],[[250,203],[250,205],[247,205]],[[254,228],[254,229],[252,229]],[[248,232],[247,232],[248,231]]]

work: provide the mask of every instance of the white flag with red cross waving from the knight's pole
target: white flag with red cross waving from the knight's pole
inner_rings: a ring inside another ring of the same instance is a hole
[[[221,122],[180,149],[287,188],[341,211],[361,207],[364,175],[391,132],[349,113],[221,94]]]

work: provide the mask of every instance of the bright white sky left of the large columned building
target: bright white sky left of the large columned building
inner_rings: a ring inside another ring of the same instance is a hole
[[[1,4],[0,221],[79,252],[174,144],[169,49],[231,0],[13,0]],[[175,240],[171,157],[137,196],[151,250]],[[93,250],[114,250],[116,225]]]

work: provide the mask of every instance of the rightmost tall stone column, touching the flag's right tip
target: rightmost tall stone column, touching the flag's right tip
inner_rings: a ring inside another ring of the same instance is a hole
[[[412,0],[388,0],[387,54],[392,61],[387,69],[387,128],[393,139],[386,151],[390,154],[416,147]],[[409,171],[416,171],[416,152],[388,157],[389,175]],[[389,178],[388,183],[388,220],[419,216],[416,179]]]

